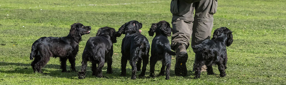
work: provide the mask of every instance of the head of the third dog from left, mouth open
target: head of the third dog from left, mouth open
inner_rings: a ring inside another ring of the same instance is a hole
[[[136,20],[129,21],[122,25],[116,32],[116,37],[120,37],[121,34],[126,33],[141,33],[142,23],[139,23]]]

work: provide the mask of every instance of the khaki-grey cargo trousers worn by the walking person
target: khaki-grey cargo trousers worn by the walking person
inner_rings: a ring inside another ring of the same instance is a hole
[[[173,14],[172,50],[180,43],[186,44],[188,48],[190,39],[191,46],[210,39],[217,0],[172,0],[170,11]]]

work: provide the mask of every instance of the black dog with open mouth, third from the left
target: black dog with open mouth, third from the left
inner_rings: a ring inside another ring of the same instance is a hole
[[[136,79],[136,71],[140,71],[141,60],[143,60],[143,67],[139,76],[145,76],[146,66],[148,64],[150,44],[148,39],[140,34],[141,28],[142,23],[134,20],[125,23],[116,32],[117,37],[120,37],[121,34],[125,34],[121,44],[121,75],[126,76],[126,63],[127,60],[129,60],[132,66],[131,79]],[[137,66],[135,65],[136,62]]]

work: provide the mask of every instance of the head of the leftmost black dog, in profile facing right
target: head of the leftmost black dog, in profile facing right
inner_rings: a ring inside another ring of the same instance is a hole
[[[89,34],[91,30],[90,26],[84,26],[81,23],[74,23],[71,25],[71,29],[69,31],[69,34],[80,34],[80,35],[85,35]]]

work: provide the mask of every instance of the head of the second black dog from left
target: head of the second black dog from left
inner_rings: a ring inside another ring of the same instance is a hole
[[[112,43],[116,43],[115,29],[111,27],[99,28],[96,36],[109,36]]]

